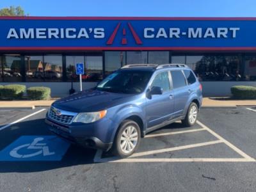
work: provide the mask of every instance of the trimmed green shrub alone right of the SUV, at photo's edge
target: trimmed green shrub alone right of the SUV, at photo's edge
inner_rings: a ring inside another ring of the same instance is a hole
[[[256,87],[254,86],[232,86],[231,93],[236,99],[256,99]]]

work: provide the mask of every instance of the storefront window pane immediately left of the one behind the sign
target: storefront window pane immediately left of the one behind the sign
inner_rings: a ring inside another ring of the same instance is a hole
[[[44,56],[44,78],[45,81],[62,80],[62,56]]]

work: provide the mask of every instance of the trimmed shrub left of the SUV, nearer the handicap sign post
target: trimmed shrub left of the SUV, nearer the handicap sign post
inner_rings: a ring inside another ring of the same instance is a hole
[[[44,86],[34,86],[27,90],[29,99],[33,100],[45,100],[51,99],[51,88]]]

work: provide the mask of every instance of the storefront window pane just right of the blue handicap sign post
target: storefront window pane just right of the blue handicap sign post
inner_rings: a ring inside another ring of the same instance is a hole
[[[102,76],[102,56],[85,56],[85,81],[101,81]]]

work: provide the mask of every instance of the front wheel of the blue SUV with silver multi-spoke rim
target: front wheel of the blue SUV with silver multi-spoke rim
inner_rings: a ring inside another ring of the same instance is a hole
[[[127,134],[128,136],[125,136]],[[131,137],[132,135],[133,137]],[[140,135],[140,127],[136,122],[124,120],[118,129],[113,143],[113,154],[122,158],[131,156],[140,144]]]

